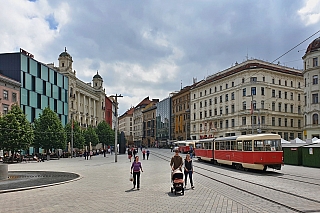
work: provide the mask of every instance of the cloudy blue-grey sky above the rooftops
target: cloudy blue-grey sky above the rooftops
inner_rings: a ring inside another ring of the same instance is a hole
[[[320,30],[320,0],[0,0],[0,52],[23,48],[58,64],[67,47],[77,77],[99,70],[119,114],[160,100],[248,57],[273,62]],[[302,69],[306,47],[276,60]],[[276,63],[275,62],[275,63]]]

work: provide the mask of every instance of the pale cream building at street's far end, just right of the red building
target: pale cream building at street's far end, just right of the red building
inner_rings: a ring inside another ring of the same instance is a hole
[[[124,133],[127,145],[133,145],[133,110],[133,107],[128,109],[118,119],[119,132]]]

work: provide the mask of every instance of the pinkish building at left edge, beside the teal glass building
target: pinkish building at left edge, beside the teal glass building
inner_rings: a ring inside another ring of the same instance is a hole
[[[11,105],[20,106],[20,83],[0,74],[0,113],[7,114]]]

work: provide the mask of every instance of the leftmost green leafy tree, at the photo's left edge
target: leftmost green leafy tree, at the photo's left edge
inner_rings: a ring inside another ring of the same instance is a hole
[[[0,119],[0,149],[12,153],[28,149],[33,141],[33,129],[17,104]]]

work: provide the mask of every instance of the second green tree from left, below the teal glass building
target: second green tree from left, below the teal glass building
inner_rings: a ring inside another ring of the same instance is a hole
[[[34,121],[34,146],[45,150],[64,149],[66,133],[57,114],[46,107]]]

